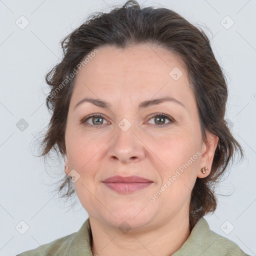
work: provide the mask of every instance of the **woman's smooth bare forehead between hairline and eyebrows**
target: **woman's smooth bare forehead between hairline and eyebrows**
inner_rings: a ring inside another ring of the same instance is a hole
[[[97,50],[76,74],[72,95],[76,101],[84,96],[107,101],[118,96],[134,103],[154,95],[193,99],[185,67],[169,50],[150,44],[125,49],[101,46]]]

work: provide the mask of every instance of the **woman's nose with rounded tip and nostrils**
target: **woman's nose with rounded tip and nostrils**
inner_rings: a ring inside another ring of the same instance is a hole
[[[107,152],[108,158],[124,164],[143,159],[145,157],[145,150],[143,142],[139,139],[137,133],[132,126],[126,131],[117,126],[116,134],[110,140],[111,144]]]

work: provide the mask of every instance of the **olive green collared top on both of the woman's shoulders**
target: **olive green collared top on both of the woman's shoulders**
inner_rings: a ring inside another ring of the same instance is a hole
[[[16,256],[93,256],[91,240],[90,222],[89,218],[87,218],[77,232],[55,239]],[[211,231],[203,217],[197,221],[182,246],[172,254],[172,256],[184,255],[249,256],[233,241]]]

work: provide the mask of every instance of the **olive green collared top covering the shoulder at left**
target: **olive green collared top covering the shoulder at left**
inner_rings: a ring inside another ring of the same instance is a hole
[[[67,256],[90,255],[90,224],[87,218],[77,232],[24,251],[16,256]],[[80,254],[81,253],[81,254]]]

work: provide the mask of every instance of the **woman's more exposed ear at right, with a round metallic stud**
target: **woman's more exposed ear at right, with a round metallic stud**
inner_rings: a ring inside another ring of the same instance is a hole
[[[217,147],[218,140],[219,140],[219,137],[217,135],[214,135],[209,131],[206,131],[206,137],[207,137],[206,143],[202,142],[200,166],[201,168],[206,166],[207,169],[203,174],[200,168],[197,172],[198,178],[205,178],[206,176],[209,175],[211,171],[211,165],[212,165],[215,149]]]

